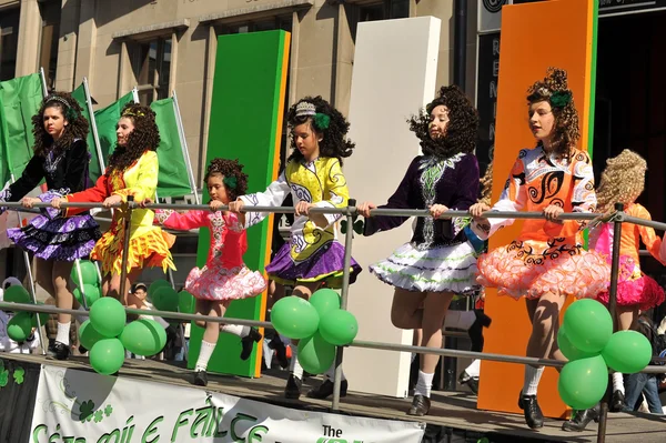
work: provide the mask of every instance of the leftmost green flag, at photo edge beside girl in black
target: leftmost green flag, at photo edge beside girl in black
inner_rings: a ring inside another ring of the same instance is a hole
[[[0,82],[0,188],[11,174],[18,178],[32,158],[31,119],[42,100],[38,73]]]

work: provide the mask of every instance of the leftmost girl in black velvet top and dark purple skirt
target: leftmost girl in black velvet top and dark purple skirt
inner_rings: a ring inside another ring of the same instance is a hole
[[[0,202],[21,200],[24,208],[37,202],[50,202],[69,192],[85,189],[89,153],[85,138],[88,121],[81,107],[65,92],[54,92],[44,98],[39,112],[32,117],[34,155],[21,177],[0,191]],[[39,198],[24,197],[46,178],[49,191]],[[0,203],[1,204],[1,203]],[[0,212],[2,209],[0,209]],[[57,211],[42,211],[20,229],[9,229],[8,236],[23,250],[34,254],[36,278],[62,309],[72,309],[70,274],[74,260],[85,258],[101,236],[98,223],[88,211],[72,219],[57,218]],[[58,314],[58,334],[50,356],[64,360],[70,353],[71,315]]]

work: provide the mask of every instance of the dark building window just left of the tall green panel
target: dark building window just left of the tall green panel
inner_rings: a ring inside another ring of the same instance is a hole
[[[149,105],[169,97],[171,44],[170,38],[133,43],[132,69],[141,104]]]

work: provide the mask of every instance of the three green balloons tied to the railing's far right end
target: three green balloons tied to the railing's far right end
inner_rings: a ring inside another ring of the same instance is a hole
[[[652,360],[652,344],[636,331],[613,333],[608,310],[596,300],[574,302],[557,333],[568,359],[559,373],[559,396],[575,410],[596,405],[608,387],[608,368],[624,374],[640,372]]]

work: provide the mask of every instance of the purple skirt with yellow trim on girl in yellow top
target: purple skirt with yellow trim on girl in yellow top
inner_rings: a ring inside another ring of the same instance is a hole
[[[361,272],[361,266],[354,259],[351,264],[350,283],[353,283]],[[269,278],[278,283],[294,285],[299,282],[323,282],[332,289],[342,288],[343,270],[344,246],[336,241],[325,244],[307,260],[299,263],[291,256],[291,245],[283,244],[266,266]]]

